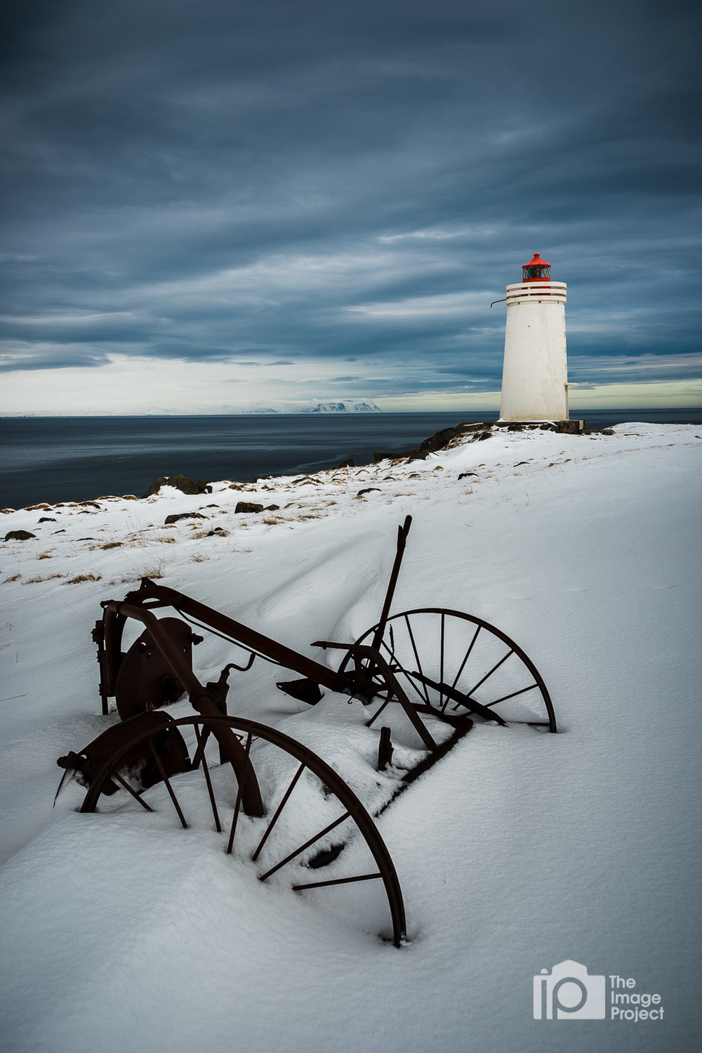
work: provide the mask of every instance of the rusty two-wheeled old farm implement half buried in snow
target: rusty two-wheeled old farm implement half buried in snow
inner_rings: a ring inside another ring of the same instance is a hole
[[[390,614],[410,523],[407,516],[398,529],[378,623],[353,643],[313,643],[340,652],[337,669],[147,578],[123,600],[103,601],[93,633],[102,712],[115,698],[121,722],[58,760],[86,787],[80,811],[95,812],[98,803],[109,811],[133,800],[144,812],[173,809],[188,828],[205,816],[195,803],[199,794],[206,804],[205,824],[223,836],[226,852],[236,847],[238,856],[250,859],[262,881],[285,869],[288,888],[324,889],[326,896],[339,894],[328,891],[332,887],[358,890],[359,882],[379,881],[380,898],[389,909],[388,937],[399,947],[406,930],[402,892],[374,816],[445,755],[475,720],[556,731],[543,679],[500,630],[441,608]],[[180,617],[154,613],[168,608]],[[128,619],[144,628],[123,653]],[[196,629],[235,643],[247,653],[246,661],[228,662],[218,680],[203,686],[193,672],[193,647],[202,640]],[[305,744],[278,728],[227,712],[230,671],[245,672],[256,658],[297,673],[300,679],[277,686],[302,702],[316,704],[325,690],[360,703],[361,727],[370,729],[362,733],[364,742],[375,743],[367,767],[376,793],[368,807]],[[163,708],[183,695],[196,715],[174,719]],[[536,701],[541,713],[524,710],[525,700]]]

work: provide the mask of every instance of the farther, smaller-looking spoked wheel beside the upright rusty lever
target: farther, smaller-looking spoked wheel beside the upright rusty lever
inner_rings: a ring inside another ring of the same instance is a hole
[[[377,628],[356,642],[369,643]],[[403,611],[387,619],[378,647],[417,706],[557,730],[548,691],[531,659],[481,618],[442,608]],[[340,672],[352,660],[347,655]]]

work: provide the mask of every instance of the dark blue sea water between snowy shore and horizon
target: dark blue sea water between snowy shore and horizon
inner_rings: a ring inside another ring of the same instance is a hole
[[[575,416],[575,414],[573,415]],[[462,421],[497,414],[383,413],[238,417],[0,418],[0,506],[141,496],[157,475],[248,481],[314,472],[376,452],[401,453]],[[702,423],[702,410],[601,410],[590,428],[626,420]]]

